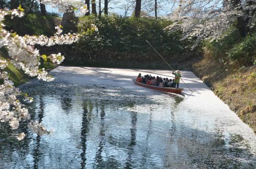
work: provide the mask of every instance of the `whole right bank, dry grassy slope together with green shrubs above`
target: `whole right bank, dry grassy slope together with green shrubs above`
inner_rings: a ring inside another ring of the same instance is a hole
[[[256,34],[245,38],[236,29],[207,42],[193,72],[256,133]]]

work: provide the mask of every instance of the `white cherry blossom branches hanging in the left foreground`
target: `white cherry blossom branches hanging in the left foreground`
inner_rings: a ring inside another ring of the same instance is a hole
[[[58,7],[60,11],[74,10],[75,5],[71,5],[71,2],[67,1],[48,1],[41,0],[41,3]],[[78,6],[78,5],[77,5]],[[79,10],[82,13],[87,12],[86,6],[79,5]],[[45,62],[51,61],[53,64],[60,64],[65,58],[61,53],[50,54],[49,56],[39,54],[39,50],[34,45],[52,46],[62,44],[72,44],[79,39],[77,34],[62,34],[61,27],[56,26],[56,33],[52,37],[41,36],[18,36],[15,33],[11,33],[4,29],[5,25],[3,21],[6,15],[13,17],[23,17],[24,9],[21,6],[18,9],[8,11],[6,9],[0,9],[0,48],[5,47],[8,51],[10,59],[0,59],[0,122],[9,123],[12,129],[17,129],[20,121],[30,120],[28,109],[20,103],[16,98],[17,96],[23,96],[25,102],[32,102],[33,98],[28,97],[27,94],[23,95],[17,88],[14,87],[14,83],[8,78],[8,73],[5,71],[8,63],[11,63],[15,68],[22,69],[29,76],[36,76],[38,79],[45,81],[52,81],[54,78],[48,74],[45,68],[40,69],[39,59],[42,58]],[[92,30],[97,32],[97,26],[92,25]],[[29,123],[29,128],[39,134],[47,134],[46,127],[37,121]],[[17,134],[16,138],[22,140],[25,137],[25,133]]]

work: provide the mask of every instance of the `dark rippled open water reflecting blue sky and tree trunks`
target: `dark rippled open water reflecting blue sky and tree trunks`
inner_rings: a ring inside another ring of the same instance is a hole
[[[22,90],[34,97],[32,119],[54,131],[37,136],[24,123],[18,142],[0,123],[0,168],[256,167],[255,142],[223,130],[233,122],[212,107],[180,106],[180,96],[39,80]]]

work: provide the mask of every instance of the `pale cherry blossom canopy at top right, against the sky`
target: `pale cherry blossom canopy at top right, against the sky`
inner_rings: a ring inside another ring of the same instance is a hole
[[[222,0],[217,1],[201,1],[201,0],[187,0],[180,1],[180,5],[174,10],[172,15],[168,18],[174,21],[174,24],[166,27],[170,33],[176,30],[182,30],[184,39],[191,39],[197,37],[197,42],[202,39],[218,39],[223,32],[225,32],[230,25],[242,16],[246,19],[247,16],[242,9],[255,9],[255,4],[243,7],[232,6],[232,0],[226,0],[223,4]],[[255,24],[255,18],[250,19],[250,27]],[[193,46],[195,47],[197,43]]]

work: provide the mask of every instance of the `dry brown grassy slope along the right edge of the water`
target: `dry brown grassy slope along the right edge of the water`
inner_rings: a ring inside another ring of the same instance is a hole
[[[231,69],[204,58],[193,72],[256,133],[256,68]]]

